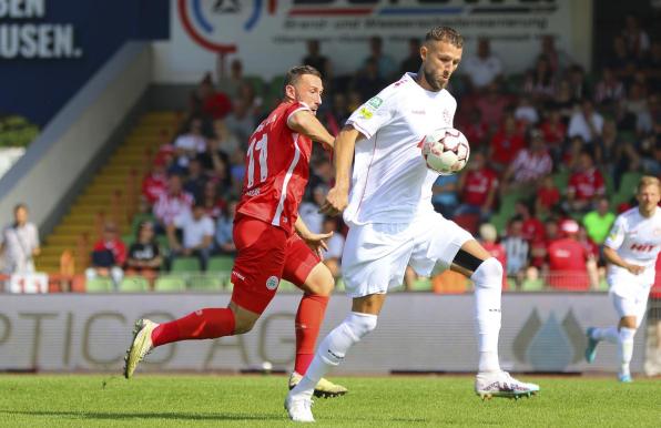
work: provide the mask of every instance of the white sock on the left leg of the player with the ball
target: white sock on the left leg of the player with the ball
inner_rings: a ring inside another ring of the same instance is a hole
[[[332,367],[344,360],[349,348],[376,328],[377,316],[352,312],[340,325],[324,338],[305,376],[289,393],[311,398],[315,386]]]

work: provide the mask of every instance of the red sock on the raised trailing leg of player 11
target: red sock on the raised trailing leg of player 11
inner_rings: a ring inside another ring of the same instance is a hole
[[[206,308],[159,325],[152,332],[152,343],[156,347],[171,342],[214,339],[233,334],[234,313],[230,308]]]

